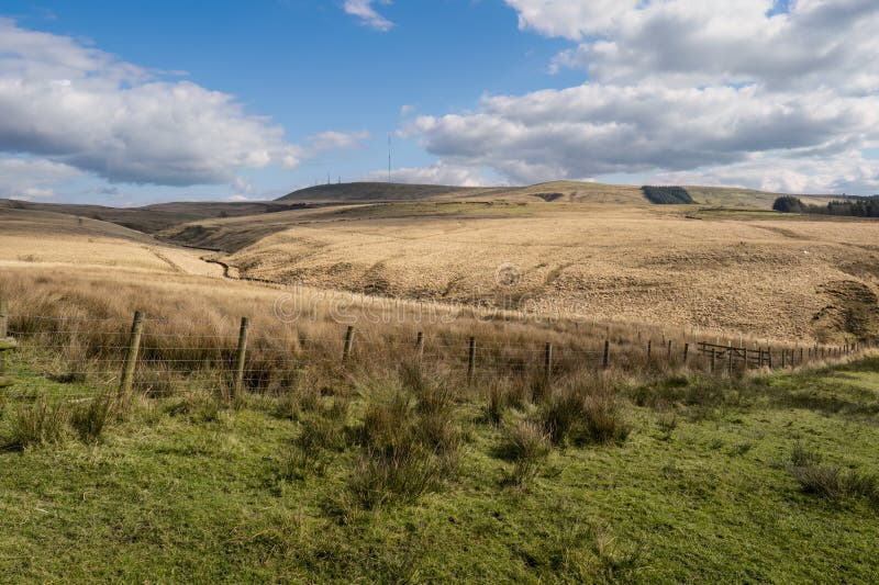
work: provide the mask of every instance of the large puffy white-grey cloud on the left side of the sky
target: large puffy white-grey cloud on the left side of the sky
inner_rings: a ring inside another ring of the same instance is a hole
[[[311,148],[289,144],[280,126],[246,113],[234,97],[157,75],[0,19],[0,150],[110,182],[192,185],[229,183],[243,169],[292,168],[333,147],[320,137]]]

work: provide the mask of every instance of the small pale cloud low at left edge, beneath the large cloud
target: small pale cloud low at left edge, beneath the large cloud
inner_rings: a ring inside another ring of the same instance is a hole
[[[0,198],[52,199],[55,189],[82,173],[67,165],[15,156],[0,156]]]

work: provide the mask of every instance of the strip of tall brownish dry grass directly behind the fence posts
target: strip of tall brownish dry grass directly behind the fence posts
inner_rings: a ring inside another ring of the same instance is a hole
[[[544,344],[554,345],[554,376],[566,376],[599,371],[608,335],[604,326],[505,320],[438,305],[129,269],[8,268],[0,275],[0,295],[10,300],[10,328],[26,359],[53,380],[90,387],[118,384],[132,313],[144,311],[136,384],[149,395],[197,387],[227,392],[241,316],[252,319],[246,385],[269,393],[296,387],[302,376],[320,387],[321,380],[347,373],[387,374],[416,359],[418,331],[425,336],[423,363],[449,372],[458,383],[474,336],[480,386],[499,378],[538,384]],[[347,324],[355,325],[356,336],[343,364]],[[617,326],[610,334],[614,369],[634,374],[680,365],[677,352],[670,363],[648,364],[643,348],[631,342],[634,329]]]

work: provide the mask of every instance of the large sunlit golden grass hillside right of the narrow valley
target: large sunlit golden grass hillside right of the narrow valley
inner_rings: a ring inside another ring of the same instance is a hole
[[[692,213],[405,203],[202,225],[241,275],[277,282],[733,336],[879,333],[879,223]]]

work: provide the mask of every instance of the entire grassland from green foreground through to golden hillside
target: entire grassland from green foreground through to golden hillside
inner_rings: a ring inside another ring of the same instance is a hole
[[[713,378],[679,353],[869,338],[879,224],[546,187],[162,234],[225,254],[0,210],[0,582],[879,580],[879,356]],[[533,313],[489,308],[511,300]]]

